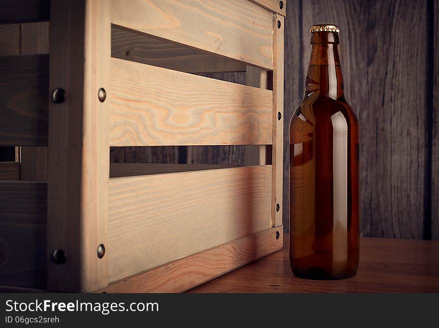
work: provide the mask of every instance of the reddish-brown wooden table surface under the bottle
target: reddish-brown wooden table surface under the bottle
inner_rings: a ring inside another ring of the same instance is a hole
[[[286,244],[189,293],[439,293],[439,241],[361,238],[360,247],[360,269],[351,279],[293,277]]]

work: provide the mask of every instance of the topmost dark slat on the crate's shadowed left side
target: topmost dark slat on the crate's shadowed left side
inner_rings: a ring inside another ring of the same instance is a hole
[[[50,0],[2,0],[0,23],[23,23],[50,19]]]

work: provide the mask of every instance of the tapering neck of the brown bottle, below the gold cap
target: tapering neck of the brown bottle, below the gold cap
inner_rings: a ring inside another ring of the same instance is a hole
[[[326,31],[312,33],[312,52],[305,81],[305,98],[319,92],[318,97],[344,99],[338,43],[338,33]]]

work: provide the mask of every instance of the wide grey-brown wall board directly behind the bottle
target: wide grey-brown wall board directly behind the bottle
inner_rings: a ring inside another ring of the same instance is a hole
[[[345,94],[360,122],[364,236],[424,235],[426,13],[426,0],[303,1],[303,67],[310,54],[309,27],[316,22],[340,26]],[[408,21],[420,23],[402,28]]]

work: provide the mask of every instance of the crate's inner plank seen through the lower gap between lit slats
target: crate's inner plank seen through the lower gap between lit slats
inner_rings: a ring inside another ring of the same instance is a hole
[[[1,164],[1,163],[0,163]],[[110,163],[110,178],[224,169],[238,165]],[[1,170],[1,166],[0,166]],[[0,171],[1,172],[1,171]]]

